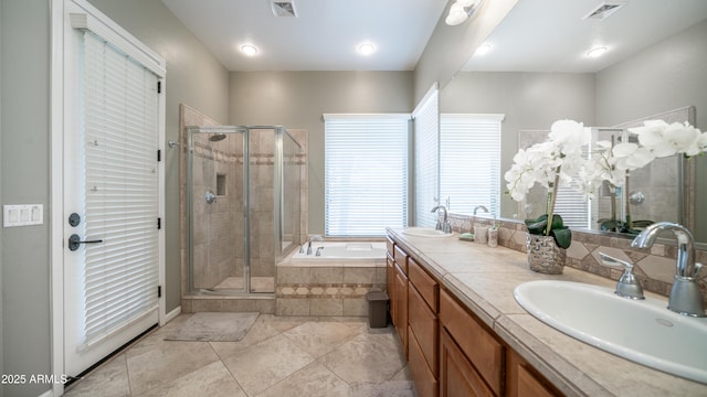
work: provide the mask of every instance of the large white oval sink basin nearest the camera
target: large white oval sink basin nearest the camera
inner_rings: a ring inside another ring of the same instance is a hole
[[[674,313],[666,301],[630,300],[579,282],[530,281],[514,296],[530,314],[572,337],[707,384],[707,319]]]

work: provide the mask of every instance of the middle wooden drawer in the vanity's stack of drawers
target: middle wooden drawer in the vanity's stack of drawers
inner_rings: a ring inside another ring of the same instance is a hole
[[[408,323],[410,333],[418,339],[418,347],[422,352],[424,360],[432,371],[437,375],[439,365],[439,320],[430,310],[414,286],[408,286]],[[410,344],[410,341],[408,341]]]

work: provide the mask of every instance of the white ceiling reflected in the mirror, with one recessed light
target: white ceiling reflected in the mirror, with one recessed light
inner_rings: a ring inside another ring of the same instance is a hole
[[[623,2],[604,20],[599,4]],[[464,71],[595,73],[707,18],[707,0],[520,0]],[[705,37],[707,45],[707,37]],[[589,58],[593,46],[606,53]]]

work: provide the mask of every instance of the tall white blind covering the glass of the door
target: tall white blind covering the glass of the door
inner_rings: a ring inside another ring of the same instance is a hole
[[[84,33],[85,343],[158,307],[157,76]]]

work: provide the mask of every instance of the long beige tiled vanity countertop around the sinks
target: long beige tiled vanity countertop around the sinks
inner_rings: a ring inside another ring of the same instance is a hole
[[[546,325],[528,314],[513,296],[516,286],[530,280],[579,281],[608,288],[613,288],[615,281],[569,267],[562,275],[540,275],[528,268],[523,253],[462,242],[455,236],[416,237],[402,229],[388,233],[566,395],[707,396],[707,385],[635,364]],[[667,301],[651,292],[646,296]]]

